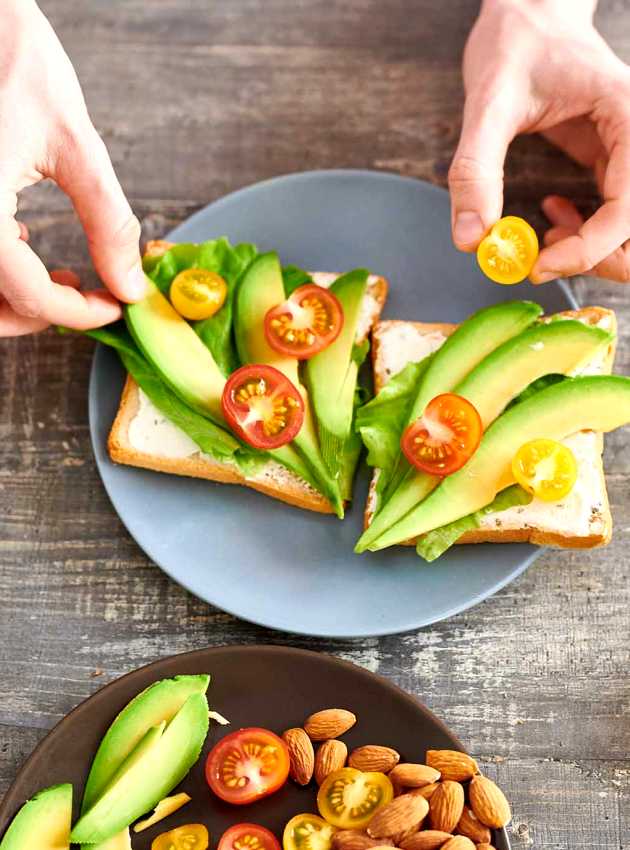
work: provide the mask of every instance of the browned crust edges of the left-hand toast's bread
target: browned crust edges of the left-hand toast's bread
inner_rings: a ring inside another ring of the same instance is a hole
[[[146,245],[145,256],[160,256],[173,244],[163,240],[152,240]],[[374,277],[369,283],[368,293],[375,302],[370,316],[371,324],[378,320],[387,298],[387,289],[387,281],[383,277]],[[369,331],[370,329],[357,342],[363,342]],[[139,407],[138,386],[133,378],[127,375],[118,412],[107,441],[109,456],[115,463],[155,472],[166,472],[171,475],[202,478],[222,484],[241,484],[297,508],[323,514],[334,513],[328,499],[288,470],[284,471],[281,480],[275,479],[273,474],[264,474],[265,470],[258,476],[246,477],[235,465],[212,460],[201,452],[184,458],[169,458],[139,451],[129,440],[129,426],[137,415]]]

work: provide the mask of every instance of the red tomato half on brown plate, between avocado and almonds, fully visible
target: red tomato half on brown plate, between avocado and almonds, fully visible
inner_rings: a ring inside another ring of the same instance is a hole
[[[217,797],[241,805],[273,794],[289,775],[286,744],[268,729],[239,729],[209,752],[206,780]]]

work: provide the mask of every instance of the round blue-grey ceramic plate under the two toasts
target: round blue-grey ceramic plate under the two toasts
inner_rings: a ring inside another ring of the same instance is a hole
[[[383,274],[390,282],[388,318],[460,322],[512,298],[535,299],[550,312],[572,303],[559,284],[491,283],[473,256],[452,246],[446,192],[391,174],[324,171],[269,180],[210,204],[168,238],[221,235],[275,249],[284,263],[314,271],[360,266]],[[485,599],[538,553],[526,545],[454,547],[432,566],[402,547],[355,555],[366,469],[339,522],[243,487],[116,466],[106,441],[123,379],[116,355],[97,349],[90,426],[114,508],[172,578],[246,620],[327,637],[401,632]]]

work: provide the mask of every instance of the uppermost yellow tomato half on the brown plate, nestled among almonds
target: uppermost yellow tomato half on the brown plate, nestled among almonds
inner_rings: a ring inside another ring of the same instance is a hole
[[[394,798],[384,773],[342,767],[329,774],[317,794],[320,815],[340,829],[364,829],[374,813]]]

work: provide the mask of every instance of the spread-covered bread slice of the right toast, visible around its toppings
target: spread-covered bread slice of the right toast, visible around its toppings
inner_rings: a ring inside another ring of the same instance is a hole
[[[615,314],[602,307],[568,310],[559,315],[612,332],[616,330]],[[550,318],[546,317],[546,320]],[[456,327],[423,322],[378,322],[372,333],[376,391],[407,363],[417,362],[436,351]],[[580,369],[580,374],[609,373],[614,356],[613,342]],[[534,499],[529,505],[487,514],[479,528],[467,532],[457,542],[536,543],[566,549],[589,549],[608,543],[612,534],[612,518],[602,466],[603,437],[593,431],[583,431],[572,434],[563,442],[578,460],[578,480],[566,499],[553,504]],[[374,470],[365,510],[366,528],[376,507],[378,474],[378,469]],[[409,540],[404,545],[411,546],[416,542]]]

